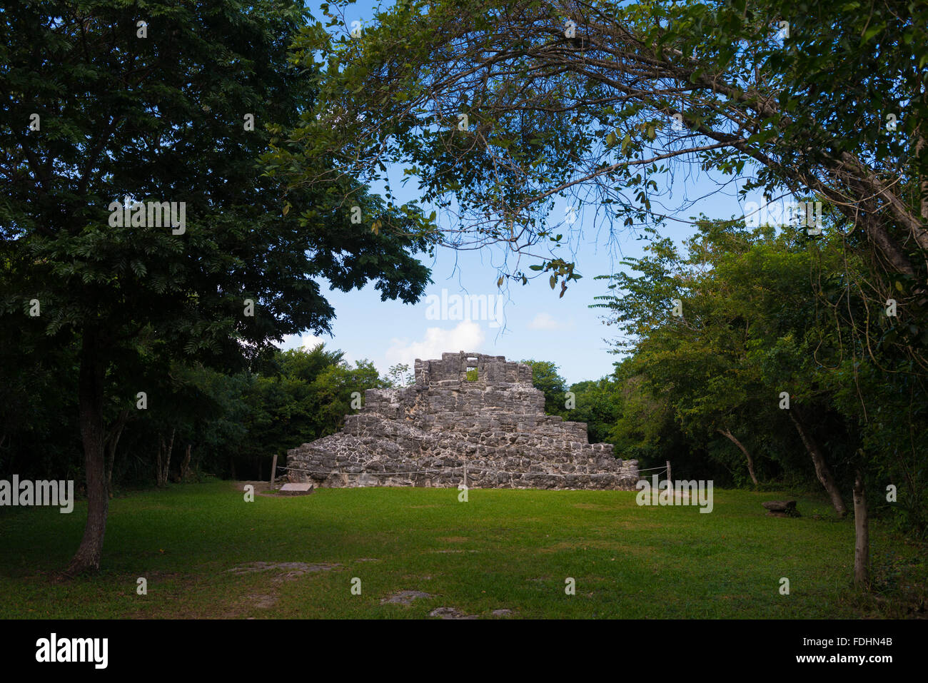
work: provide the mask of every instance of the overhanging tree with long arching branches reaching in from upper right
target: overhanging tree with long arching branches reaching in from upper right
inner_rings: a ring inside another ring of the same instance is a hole
[[[330,27],[343,5],[322,6]],[[403,164],[446,210],[443,243],[501,245],[500,284],[535,271],[561,288],[584,221],[556,200],[610,231],[680,220],[658,182],[681,164],[720,187],[741,175],[742,195],[814,195],[862,237],[870,305],[898,299],[894,342],[924,371],[926,27],[909,0],[409,0],[357,37],[303,33],[322,97],[274,163],[294,186]]]

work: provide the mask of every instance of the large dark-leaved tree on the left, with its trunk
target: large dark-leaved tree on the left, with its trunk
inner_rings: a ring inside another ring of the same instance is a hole
[[[126,380],[133,367],[245,367],[283,335],[329,330],[320,280],[374,281],[406,303],[429,280],[414,257],[428,239],[408,237],[421,217],[342,177],[361,211],[408,228],[372,231],[332,187],[285,201],[255,163],[266,124],[313,107],[312,70],[288,54],[305,23],[303,3],[271,0],[14,0],[0,13],[3,325],[79,349],[88,519],[68,573],[100,564],[105,406],[146,391]]]

